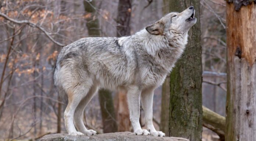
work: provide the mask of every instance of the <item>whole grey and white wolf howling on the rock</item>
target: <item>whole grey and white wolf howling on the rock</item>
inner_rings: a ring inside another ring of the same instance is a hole
[[[153,126],[153,92],[184,51],[188,30],[196,23],[193,15],[189,7],[167,14],[132,36],[82,38],[65,46],[57,58],[54,85],[60,95],[68,97],[64,112],[68,134],[96,134],[86,129],[82,115],[97,90],[106,88],[127,93],[136,134],[165,136]],[[139,124],[140,100],[147,130]]]

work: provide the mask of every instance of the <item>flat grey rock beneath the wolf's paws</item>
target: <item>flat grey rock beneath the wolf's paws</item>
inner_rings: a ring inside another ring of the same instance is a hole
[[[135,135],[131,132],[116,132],[99,134],[94,136],[68,136],[68,134],[49,134],[43,136],[40,141],[189,141],[176,137],[153,137]]]

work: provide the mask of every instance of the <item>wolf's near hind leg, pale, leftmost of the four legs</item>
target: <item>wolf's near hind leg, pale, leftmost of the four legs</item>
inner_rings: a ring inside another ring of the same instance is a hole
[[[67,91],[68,105],[64,112],[65,127],[69,135],[83,135],[78,132],[74,126],[74,112],[80,101],[85,97],[85,93],[88,93],[89,89],[84,85],[77,85],[74,88],[70,88]]]

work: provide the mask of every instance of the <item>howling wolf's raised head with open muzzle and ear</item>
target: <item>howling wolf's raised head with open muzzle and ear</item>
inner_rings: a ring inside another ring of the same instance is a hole
[[[171,12],[161,18],[156,23],[146,27],[150,34],[154,35],[170,35],[173,32],[187,33],[190,27],[196,23],[195,9],[193,6],[187,8],[181,13]]]

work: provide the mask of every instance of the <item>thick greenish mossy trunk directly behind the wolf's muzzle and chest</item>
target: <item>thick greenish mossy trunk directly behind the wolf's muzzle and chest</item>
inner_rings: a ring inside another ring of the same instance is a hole
[[[200,0],[170,0],[170,11],[195,7],[196,24],[189,30],[186,49],[170,74],[169,135],[191,141],[202,138],[202,59]]]

